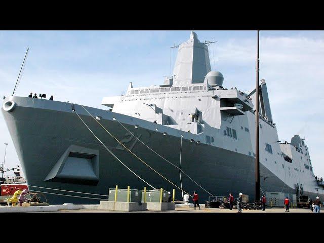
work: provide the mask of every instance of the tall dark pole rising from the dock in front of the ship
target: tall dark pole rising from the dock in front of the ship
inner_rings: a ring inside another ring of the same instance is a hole
[[[257,32],[257,80],[255,110],[255,200],[260,200],[260,156],[259,156],[259,31]]]

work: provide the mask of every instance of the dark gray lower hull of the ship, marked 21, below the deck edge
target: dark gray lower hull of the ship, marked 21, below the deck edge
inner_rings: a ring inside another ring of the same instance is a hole
[[[108,188],[113,188],[115,185],[118,185],[119,188],[127,188],[129,185],[131,188],[142,189],[147,186],[148,190],[152,189],[121,165],[102,146],[75,112],[71,111],[71,104],[22,97],[9,97],[6,98],[5,102],[8,100],[16,102],[16,107],[10,112],[2,109],[2,112],[29,189],[45,192],[50,204],[98,204],[100,199],[107,197],[75,192],[108,195]],[[82,106],[73,106],[105,146],[136,174],[156,188],[163,187],[168,191],[175,188],[174,185],[145,166],[129,151],[123,149]],[[174,136],[170,131],[167,136],[164,136],[163,131],[161,131],[164,127],[162,125],[159,125],[161,127],[159,131],[155,131],[153,129],[155,124],[149,121],[91,107],[86,107],[86,109],[94,116],[101,116],[99,122],[119,141],[124,141],[125,146],[147,164],[180,186],[179,169],[158,157],[138,142],[136,138],[132,138],[117,121],[113,120],[113,117],[116,117],[132,133],[140,137],[145,144],[177,166],[179,166],[180,157],[180,134]],[[134,124],[141,125],[136,129]],[[165,129],[170,130],[171,128]],[[96,175],[79,172],[80,175],[77,176],[78,168],[76,167],[74,171],[66,169],[63,179],[57,176],[56,179],[49,180],[48,178],[51,178],[51,175],[53,177],[55,167],[58,166],[60,159],[62,159],[64,153],[68,152],[71,145],[85,149],[85,151],[87,149],[97,151],[99,158],[94,169]],[[251,199],[255,197],[255,159],[252,156],[208,144],[190,142],[184,136],[181,169],[213,195],[228,195],[229,192],[237,195],[239,192],[243,192],[248,194]],[[71,175],[68,175],[68,172]],[[261,187],[264,191],[296,193],[296,189],[285,185],[262,164],[260,165],[260,172],[261,175],[266,175],[265,180],[261,178]],[[186,192],[192,194],[194,190],[198,191],[200,203],[204,203],[204,200],[208,199],[208,193],[183,174],[182,183]],[[181,191],[175,189],[176,199],[181,199]],[[66,190],[75,192],[67,192]],[[307,194],[307,192],[304,191],[304,194]],[[312,195],[312,193],[308,194]]]

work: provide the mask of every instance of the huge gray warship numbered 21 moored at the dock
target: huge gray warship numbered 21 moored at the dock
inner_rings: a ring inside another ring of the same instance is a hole
[[[104,97],[98,109],[10,96],[2,113],[30,191],[51,204],[98,204],[108,188],[198,191],[200,199],[239,192],[255,197],[255,102],[260,102],[261,193],[324,197],[309,148],[278,139],[265,80],[227,89],[195,32],[178,47],[161,85]],[[225,81],[225,82],[224,82]]]

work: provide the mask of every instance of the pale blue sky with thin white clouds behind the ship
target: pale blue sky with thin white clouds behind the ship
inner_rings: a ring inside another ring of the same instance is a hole
[[[15,93],[54,95],[105,109],[102,97],[134,87],[159,85],[170,75],[176,50],[189,38],[184,31],[0,31],[0,91],[11,95],[29,47],[25,69]],[[255,86],[256,31],[199,31],[210,46],[212,70],[224,75],[224,87]],[[214,58],[216,63],[214,63]],[[170,61],[171,60],[171,61]],[[305,137],[315,175],[324,176],[324,31],[261,31],[260,79],[265,78],[279,140]],[[19,165],[3,116],[0,116],[0,159],[9,143],[6,167]]]

